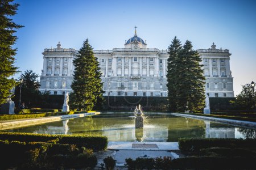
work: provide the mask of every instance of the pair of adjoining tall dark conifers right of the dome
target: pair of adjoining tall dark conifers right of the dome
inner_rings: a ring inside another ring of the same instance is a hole
[[[169,46],[167,88],[172,112],[200,112],[204,108],[204,80],[201,58],[192,42],[181,46],[177,37]]]

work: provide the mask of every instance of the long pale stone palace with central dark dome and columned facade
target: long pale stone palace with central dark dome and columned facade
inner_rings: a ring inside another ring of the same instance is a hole
[[[147,48],[135,34],[125,41],[125,48],[94,50],[100,62],[105,96],[167,96],[167,50]],[[229,50],[199,49],[206,77],[205,91],[209,97],[234,97]],[[72,48],[44,49],[40,91],[64,95],[72,91],[73,59],[78,52]]]

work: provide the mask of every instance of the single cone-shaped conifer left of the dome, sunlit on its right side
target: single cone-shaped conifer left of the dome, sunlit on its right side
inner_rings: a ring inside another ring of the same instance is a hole
[[[79,54],[73,61],[75,71],[71,88],[71,106],[79,110],[90,111],[93,107],[101,105],[104,100],[103,84],[101,82],[101,72],[99,62],[94,57],[93,48],[88,39],[79,50]]]

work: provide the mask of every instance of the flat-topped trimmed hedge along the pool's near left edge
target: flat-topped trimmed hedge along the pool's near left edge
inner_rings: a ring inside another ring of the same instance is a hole
[[[0,140],[20,141],[20,142],[47,142],[58,139],[57,143],[86,147],[92,150],[105,150],[108,146],[107,137],[88,135],[51,135],[34,133],[11,133],[0,132]]]

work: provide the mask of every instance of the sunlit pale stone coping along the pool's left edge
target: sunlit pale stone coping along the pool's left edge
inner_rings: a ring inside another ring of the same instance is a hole
[[[93,115],[96,115],[96,114],[100,114],[100,112],[80,113],[80,114],[66,114],[66,115],[59,115],[59,116],[49,116],[49,117],[38,117],[38,118],[27,118],[27,119],[19,119],[19,120],[1,121],[0,122],[0,130],[22,128],[22,127],[25,127],[25,126],[39,125],[39,124],[45,124],[45,123],[48,123],[48,122],[67,120],[69,118],[93,116]]]

